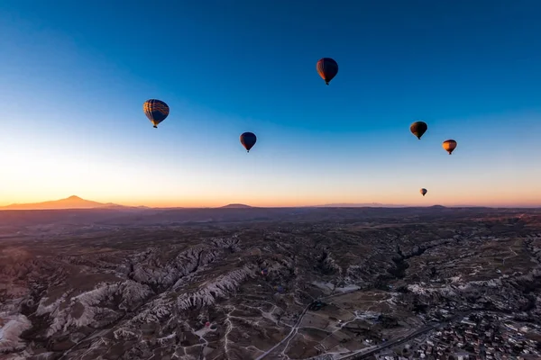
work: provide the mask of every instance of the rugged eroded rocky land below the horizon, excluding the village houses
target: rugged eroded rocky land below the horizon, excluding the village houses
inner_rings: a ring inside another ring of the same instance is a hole
[[[0,359],[362,358],[444,306],[541,324],[540,261],[539,210],[2,211]]]

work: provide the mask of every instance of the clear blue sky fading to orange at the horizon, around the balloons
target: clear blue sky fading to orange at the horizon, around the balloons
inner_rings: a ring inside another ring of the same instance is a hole
[[[537,0],[3,0],[0,205],[541,205],[540,17]],[[150,98],[170,105],[158,129]]]

